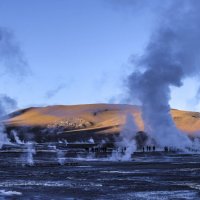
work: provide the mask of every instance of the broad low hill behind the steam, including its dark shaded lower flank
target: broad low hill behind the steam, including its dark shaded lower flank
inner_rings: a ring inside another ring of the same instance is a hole
[[[7,130],[17,129],[24,136],[29,131],[33,137],[78,138],[118,134],[125,123],[127,113],[135,118],[139,129],[144,124],[138,106],[120,104],[55,105],[30,107],[8,115],[4,120]],[[186,134],[200,131],[200,113],[172,109],[176,126]]]

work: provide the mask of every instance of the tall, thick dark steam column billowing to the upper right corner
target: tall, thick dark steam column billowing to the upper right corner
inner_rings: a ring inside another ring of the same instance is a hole
[[[184,147],[190,140],[177,130],[170,114],[170,86],[200,72],[200,2],[171,1],[160,17],[137,71],[128,78],[132,99],[142,105],[145,131],[161,145]]]

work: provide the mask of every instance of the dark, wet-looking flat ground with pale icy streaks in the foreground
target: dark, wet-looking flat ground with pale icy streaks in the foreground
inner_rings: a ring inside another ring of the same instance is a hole
[[[0,199],[200,199],[200,155],[152,153],[113,162],[40,150],[0,152]]]

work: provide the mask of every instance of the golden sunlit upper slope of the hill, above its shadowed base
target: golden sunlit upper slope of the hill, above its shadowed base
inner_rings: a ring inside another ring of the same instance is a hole
[[[65,131],[98,130],[113,133],[120,130],[127,113],[131,113],[140,130],[143,121],[138,106],[117,104],[56,105],[19,110],[9,115],[7,126],[64,127]],[[200,131],[200,113],[171,110],[179,129],[190,134]]]

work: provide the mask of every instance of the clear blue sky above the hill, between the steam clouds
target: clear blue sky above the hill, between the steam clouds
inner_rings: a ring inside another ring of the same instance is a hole
[[[126,0],[125,0],[126,1]],[[0,93],[19,108],[127,103],[124,82],[157,24],[157,10],[120,0],[0,0],[0,27],[11,30],[26,60],[23,77],[3,73]],[[128,2],[128,1],[127,1]],[[151,7],[151,5],[149,5]],[[199,81],[172,87],[170,105],[200,111]]]

